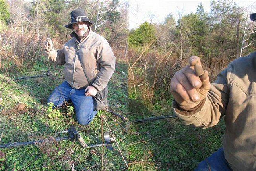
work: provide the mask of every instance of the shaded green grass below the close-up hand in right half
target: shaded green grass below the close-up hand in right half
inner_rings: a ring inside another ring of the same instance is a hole
[[[159,94],[156,96],[159,97]],[[174,115],[171,98],[165,97],[165,101],[148,104],[134,97],[134,92],[129,91],[130,120]],[[224,131],[223,120],[215,127],[204,130],[186,126],[178,118],[130,124],[127,136],[129,170],[193,170],[200,161],[222,146]]]

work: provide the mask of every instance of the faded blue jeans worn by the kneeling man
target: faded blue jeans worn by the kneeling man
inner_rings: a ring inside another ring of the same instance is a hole
[[[76,120],[81,125],[89,124],[97,114],[94,110],[93,97],[85,96],[85,89],[73,89],[67,81],[54,89],[47,103],[52,102],[55,107],[62,107],[64,101],[72,101]]]

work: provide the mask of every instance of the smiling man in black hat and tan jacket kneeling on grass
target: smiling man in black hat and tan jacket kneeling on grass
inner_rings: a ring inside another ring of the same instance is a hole
[[[115,69],[115,57],[105,38],[91,30],[83,9],[70,13],[66,28],[74,29],[62,49],[55,50],[50,38],[45,42],[48,59],[56,65],[65,65],[65,81],[56,87],[48,99],[55,107],[72,101],[78,123],[87,125],[97,110],[107,108],[107,84]]]

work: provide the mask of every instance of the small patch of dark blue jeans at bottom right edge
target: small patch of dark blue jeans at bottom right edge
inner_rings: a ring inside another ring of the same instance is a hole
[[[217,152],[199,163],[195,171],[232,171],[232,169],[224,157],[223,148],[220,148]]]

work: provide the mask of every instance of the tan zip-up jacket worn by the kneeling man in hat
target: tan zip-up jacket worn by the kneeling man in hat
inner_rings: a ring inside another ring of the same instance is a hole
[[[89,82],[81,67],[76,48],[92,86],[101,91],[107,86],[115,69],[116,58],[109,43],[90,28],[88,36],[83,37],[80,42],[73,36],[62,49],[46,52],[48,59],[54,64],[65,64],[65,80],[72,88],[80,89],[89,86]]]

